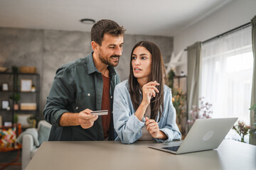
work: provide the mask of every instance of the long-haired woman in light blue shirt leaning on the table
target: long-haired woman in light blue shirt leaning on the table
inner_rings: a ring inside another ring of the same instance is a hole
[[[141,41],[132,49],[129,80],[114,89],[114,130],[123,143],[180,140],[171,89],[159,47]],[[144,118],[145,117],[145,118]]]

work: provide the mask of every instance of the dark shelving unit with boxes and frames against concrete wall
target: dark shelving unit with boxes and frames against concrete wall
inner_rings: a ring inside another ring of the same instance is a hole
[[[8,83],[9,84],[9,91],[2,91],[0,89],[0,100],[8,100],[10,102],[10,111],[6,111],[3,109],[0,109],[0,115],[2,117],[3,125],[4,122],[11,122],[14,123],[14,113],[18,113],[18,116],[23,116],[23,115],[35,115],[36,118],[38,118],[40,114],[40,74],[23,74],[19,73],[18,74],[18,93],[21,95],[21,99],[19,101],[19,108],[18,110],[14,111],[14,101],[9,99],[9,96],[14,95],[14,90],[13,90],[13,76],[14,74],[12,73],[6,73],[6,72],[1,72],[0,73],[0,84],[2,83]],[[21,79],[31,79],[32,84],[36,86],[36,91],[21,91]],[[21,110],[20,103],[36,103],[36,110]],[[2,107],[1,107],[2,108]],[[25,127],[23,127],[25,128]],[[26,127],[28,128],[28,127]]]

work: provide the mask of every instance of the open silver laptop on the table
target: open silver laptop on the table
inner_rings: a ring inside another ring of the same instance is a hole
[[[197,119],[183,141],[155,143],[148,147],[173,154],[216,149],[238,118]]]

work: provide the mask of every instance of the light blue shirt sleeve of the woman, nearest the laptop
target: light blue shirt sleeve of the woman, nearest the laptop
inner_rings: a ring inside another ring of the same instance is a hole
[[[171,90],[166,91],[164,103],[164,115],[161,117],[161,123],[159,123],[159,130],[165,133],[168,137],[166,140],[155,139],[156,142],[170,142],[172,140],[181,140],[181,132],[178,130],[176,124],[176,110],[171,101]],[[166,119],[166,120],[164,120]]]

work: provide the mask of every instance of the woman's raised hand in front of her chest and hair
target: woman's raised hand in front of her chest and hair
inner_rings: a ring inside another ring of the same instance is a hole
[[[156,89],[156,86],[159,86],[159,83],[156,81],[150,81],[149,83],[144,84],[142,87],[142,103],[144,103],[146,106],[149,105],[151,98],[155,97],[156,93],[159,93],[159,90]]]

